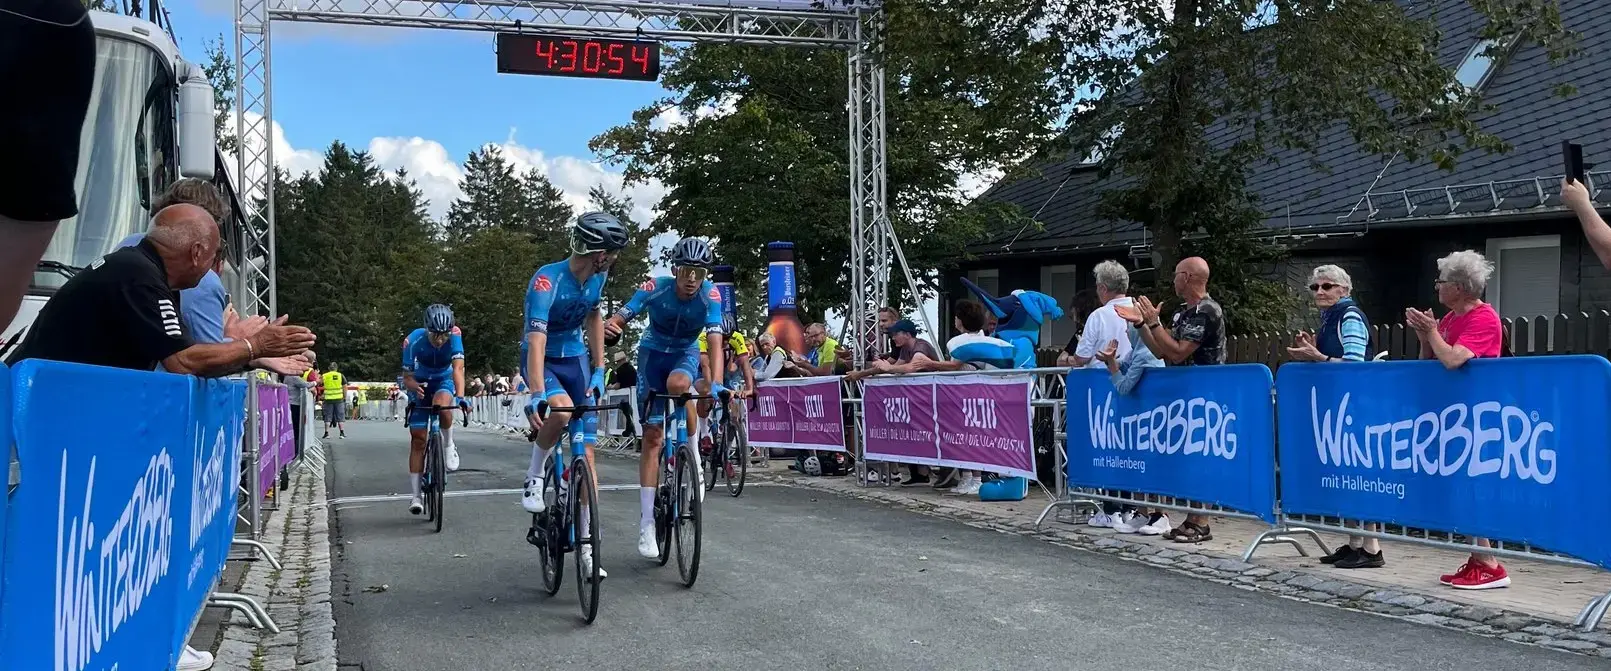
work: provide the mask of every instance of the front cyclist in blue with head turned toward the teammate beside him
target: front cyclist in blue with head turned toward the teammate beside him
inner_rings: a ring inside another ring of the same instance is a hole
[[[611,264],[625,246],[627,227],[620,219],[609,212],[586,212],[570,227],[570,257],[536,269],[525,290],[520,377],[532,388],[525,415],[536,431],[525,489],[520,492],[520,505],[527,512],[540,513],[546,508],[543,476],[548,457],[570,425],[570,412],[554,410],[543,418],[540,407],[590,405],[604,399],[604,319],[599,315],[599,296]],[[582,338],[583,327],[586,341]],[[598,414],[585,415],[582,433],[591,467]],[[590,471],[598,473],[593,468]],[[582,505],[586,508],[591,502],[583,500]],[[588,533],[588,520],[586,513],[578,520],[583,525],[582,534]],[[591,570],[591,545],[582,552]],[[604,570],[599,570],[599,578],[604,576]]]

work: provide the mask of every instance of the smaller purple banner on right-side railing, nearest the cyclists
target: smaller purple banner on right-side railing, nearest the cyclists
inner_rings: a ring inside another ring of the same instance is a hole
[[[846,452],[839,378],[768,380],[756,386],[749,444]]]

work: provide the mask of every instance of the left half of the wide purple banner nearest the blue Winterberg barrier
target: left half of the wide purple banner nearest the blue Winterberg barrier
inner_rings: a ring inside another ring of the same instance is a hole
[[[933,380],[868,378],[862,422],[868,460],[941,465]]]

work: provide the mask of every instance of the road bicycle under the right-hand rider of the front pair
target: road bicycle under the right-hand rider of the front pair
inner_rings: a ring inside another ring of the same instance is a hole
[[[720,397],[710,394],[652,394],[649,402],[665,401],[665,431],[661,449],[661,486],[654,492],[654,534],[661,542],[661,566],[672,557],[672,536],[677,536],[677,571],[685,587],[699,579],[699,547],[704,541],[704,484],[696,463],[698,447],[688,443],[686,405],[690,401],[714,399],[722,405],[731,401],[731,393]],[[675,423],[675,431],[672,430]],[[685,536],[686,533],[686,536]]]

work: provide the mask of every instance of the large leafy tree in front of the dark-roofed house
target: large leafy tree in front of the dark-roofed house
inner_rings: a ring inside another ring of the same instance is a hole
[[[1556,3],[1469,0],[1482,37],[1514,35],[1551,60],[1576,53]],[[1481,92],[1439,61],[1443,35],[1424,5],[1377,0],[1047,0],[1050,37],[1068,58],[1050,72],[1076,105],[1060,150],[1105,154],[1128,180],[1104,195],[1102,216],[1144,224],[1158,278],[1187,246],[1211,254],[1213,291],[1242,331],[1273,288],[1228,277],[1279,249],[1232,241],[1261,232],[1242,175],[1279,150],[1311,151],[1347,132],[1368,151],[1453,169],[1469,150],[1506,151],[1481,129]],[[1416,11],[1416,16],[1406,14]],[[1435,10],[1434,10],[1435,11]],[[1503,47],[1489,51],[1505,58]],[[1564,90],[1564,89],[1563,89]],[[1115,132],[1118,130],[1118,132]],[[1210,140],[1213,137],[1213,140]],[[1316,161],[1310,154],[1310,161]],[[1229,280],[1226,280],[1229,282]],[[1231,296],[1245,291],[1245,296]]]

